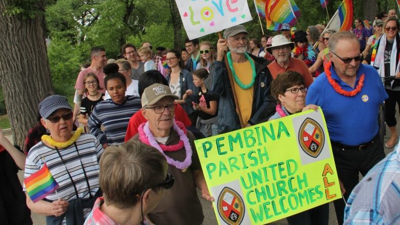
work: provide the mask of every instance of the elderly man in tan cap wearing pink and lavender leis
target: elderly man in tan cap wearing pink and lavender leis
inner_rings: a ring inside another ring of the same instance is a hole
[[[156,148],[168,162],[167,172],[175,177],[148,217],[154,224],[201,224],[204,219],[196,187],[205,199],[210,196],[194,146],[194,136],[182,122],[174,121],[178,97],[162,84],[147,87],[142,94],[142,114],[148,120],[132,138]]]

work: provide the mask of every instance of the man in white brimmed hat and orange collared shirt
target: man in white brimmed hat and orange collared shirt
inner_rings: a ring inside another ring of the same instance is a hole
[[[276,35],[272,37],[272,45],[267,48],[267,51],[275,57],[275,60],[268,65],[272,78],[275,79],[278,74],[286,71],[295,71],[302,74],[306,88],[310,87],[313,78],[307,65],[302,59],[293,58],[290,56],[294,48],[293,42],[288,42],[283,35]]]

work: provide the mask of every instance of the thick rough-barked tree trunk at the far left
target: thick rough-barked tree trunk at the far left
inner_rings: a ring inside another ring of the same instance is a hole
[[[4,15],[7,6],[18,2],[0,0],[0,79],[14,144],[23,146],[28,130],[37,123],[39,100],[52,90],[52,82],[44,14],[27,19],[22,15]],[[45,9],[45,0],[29,4]]]

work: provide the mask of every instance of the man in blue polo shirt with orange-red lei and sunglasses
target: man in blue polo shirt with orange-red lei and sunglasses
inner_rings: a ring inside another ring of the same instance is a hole
[[[388,97],[376,70],[361,64],[358,39],[350,32],[330,36],[325,72],[309,87],[306,104],[324,112],[337,174],[347,199],[367,172],[385,157],[378,134],[379,106]],[[343,224],[345,202],[334,201],[336,217]]]

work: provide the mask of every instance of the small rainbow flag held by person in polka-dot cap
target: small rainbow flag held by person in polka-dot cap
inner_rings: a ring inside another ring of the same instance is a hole
[[[27,193],[33,202],[42,200],[59,187],[47,168],[46,163],[42,169],[27,177],[24,183]]]

